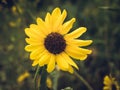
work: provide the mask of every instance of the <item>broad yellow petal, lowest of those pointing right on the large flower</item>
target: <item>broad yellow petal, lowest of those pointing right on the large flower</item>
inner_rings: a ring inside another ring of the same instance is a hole
[[[85,60],[87,58],[86,54],[81,53],[81,50],[78,47],[74,46],[67,46],[65,52],[75,58],[75,59],[80,59],[80,60]]]

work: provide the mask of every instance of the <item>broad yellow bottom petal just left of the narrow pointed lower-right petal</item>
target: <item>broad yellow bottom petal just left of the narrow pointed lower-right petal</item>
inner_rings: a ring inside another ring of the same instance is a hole
[[[69,64],[66,62],[66,60],[59,54],[56,55],[56,62],[58,64],[58,67],[61,70],[67,71],[69,68]]]

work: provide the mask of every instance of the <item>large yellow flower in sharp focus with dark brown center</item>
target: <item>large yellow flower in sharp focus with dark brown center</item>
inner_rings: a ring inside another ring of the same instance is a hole
[[[52,72],[55,66],[63,71],[73,72],[73,67],[78,69],[78,66],[71,59],[85,60],[91,50],[81,48],[88,46],[92,40],[78,39],[84,32],[85,27],[71,30],[75,18],[64,22],[67,16],[66,10],[55,8],[52,14],[47,13],[45,21],[37,18],[37,24],[31,24],[29,28],[25,28],[25,33],[28,36],[26,42],[29,44],[25,50],[30,53],[30,59],[33,60],[32,66],[39,65],[47,66],[47,72]]]

